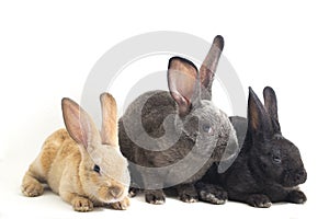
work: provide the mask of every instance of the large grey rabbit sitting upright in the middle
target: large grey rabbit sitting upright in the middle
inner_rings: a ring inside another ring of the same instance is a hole
[[[224,38],[218,35],[200,71],[188,59],[170,58],[169,92],[141,94],[120,118],[118,139],[129,161],[132,197],[145,191],[147,203],[160,205],[166,201],[162,188],[170,187],[182,201],[197,201],[194,183],[213,162],[238,154],[235,129],[212,102],[223,47]]]

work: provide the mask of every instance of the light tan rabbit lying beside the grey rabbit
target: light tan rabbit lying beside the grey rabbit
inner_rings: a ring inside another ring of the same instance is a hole
[[[22,193],[39,196],[43,183],[59,194],[77,211],[93,207],[124,210],[129,206],[129,173],[117,139],[116,102],[109,93],[101,96],[102,130],[76,102],[61,100],[66,129],[44,142],[22,182]]]

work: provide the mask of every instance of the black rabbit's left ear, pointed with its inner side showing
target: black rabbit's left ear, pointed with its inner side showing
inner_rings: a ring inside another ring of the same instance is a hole
[[[258,140],[270,139],[273,136],[270,117],[251,88],[248,99],[248,129]]]

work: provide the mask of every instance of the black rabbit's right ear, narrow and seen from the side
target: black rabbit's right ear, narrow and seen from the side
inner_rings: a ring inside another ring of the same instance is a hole
[[[277,102],[274,90],[266,87],[263,90],[264,105],[268,114],[270,115],[275,134],[281,134],[279,117],[277,117]]]

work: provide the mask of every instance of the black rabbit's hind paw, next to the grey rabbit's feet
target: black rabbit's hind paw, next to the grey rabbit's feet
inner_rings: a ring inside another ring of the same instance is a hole
[[[215,205],[223,205],[227,200],[227,192],[224,191],[222,187],[218,187],[217,189],[211,189],[211,191],[200,191],[198,196],[201,200],[204,200],[206,203],[215,204]]]

